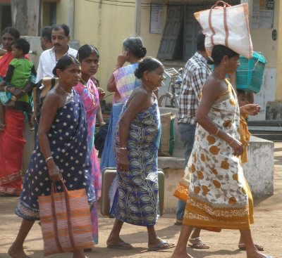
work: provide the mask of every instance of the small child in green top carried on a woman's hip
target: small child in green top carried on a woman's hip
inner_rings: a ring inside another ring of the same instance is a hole
[[[4,82],[1,83],[0,92],[0,129],[4,129],[5,126],[5,108],[4,105],[14,107],[26,112],[28,122],[30,124],[30,130],[34,129],[32,122],[32,108],[30,106],[30,98],[25,92],[25,86],[28,82],[34,84],[36,75],[35,65],[30,60],[25,58],[25,55],[30,51],[30,44],[25,39],[17,39],[12,45],[12,54],[14,59],[11,60]],[[20,98],[13,96],[13,92],[16,89],[20,89],[23,94]]]

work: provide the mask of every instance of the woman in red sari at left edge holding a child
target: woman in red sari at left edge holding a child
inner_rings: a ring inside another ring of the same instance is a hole
[[[1,44],[7,53],[0,58],[0,79],[6,76],[11,60],[13,60],[15,51],[12,46],[20,37],[20,33],[13,27],[6,27],[1,34]],[[16,48],[17,49],[17,48]],[[27,58],[27,56],[25,56]],[[20,57],[20,61],[23,58]],[[18,59],[15,60],[18,62]],[[13,67],[18,63],[13,62]],[[28,61],[27,63],[29,63]],[[30,62],[31,63],[31,62]],[[16,72],[13,70],[12,73]],[[19,78],[20,79],[20,78]],[[23,132],[25,129],[25,116],[23,112],[27,107],[27,93],[31,89],[32,84],[21,85],[20,89],[13,90],[13,96],[16,98],[12,101],[13,105],[6,106],[2,110],[2,119],[0,121],[0,195],[19,195],[22,189],[22,179],[20,176],[23,167],[23,148],[25,146],[25,138]],[[8,88],[2,82],[1,90]],[[4,116],[5,111],[5,116]]]

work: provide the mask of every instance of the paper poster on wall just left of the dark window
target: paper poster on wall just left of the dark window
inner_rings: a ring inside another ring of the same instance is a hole
[[[163,32],[164,4],[151,3],[149,33],[161,34]]]

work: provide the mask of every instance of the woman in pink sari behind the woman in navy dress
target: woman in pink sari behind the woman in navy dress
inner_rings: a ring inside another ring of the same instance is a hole
[[[97,200],[101,195],[101,175],[99,162],[97,160],[94,146],[94,131],[96,124],[96,114],[99,108],[99,93],[91,77],[96,74],[99,67],[99,52],[94,46],[84,45],[78,49],[78,60],[81,65],[81,79],[75,91],[80,95],[80,99],[85,107],[87,116],[88,132],[88,152],[92,163],[92,181],[96,194],[96,202],[91,210],[94,243],[98,243],[98,216]]]

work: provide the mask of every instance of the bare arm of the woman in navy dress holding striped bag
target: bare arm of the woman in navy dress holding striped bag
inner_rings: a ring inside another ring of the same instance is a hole
[[[39,121],[38,128],[38,141],[39,148],[45,158],[51,157],[51,149],[49,145],[48,133],[51,128],[51,125],[54,122],[54,117],[56,115],[56,111],[61,104],[61,97],[51,90],[46,98],[44,99],[44,103],[42,105],[42,112]],[[62,179],[61,172],[59,167],[56,166],[54,159],[50,159],[47,161],[49,178],[51,181],[60,181]]]

